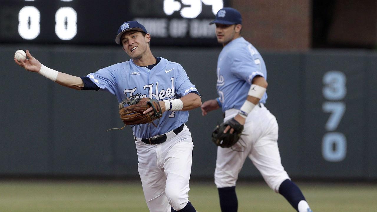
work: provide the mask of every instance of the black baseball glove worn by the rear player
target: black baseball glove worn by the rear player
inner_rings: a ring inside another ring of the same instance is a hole
[[[230,133],[230,130],[228,130],[227,133],[224,133],[224,129],[227,126],[230,126],[234,129],[232,134]],[[234,118],[231,118],[230,120],[225,121],[224,123],[221,123],[220,125],[216,126],[215,130],[213,130],[212,132],[212,141],[217,146],[221,146],[223,148],[231,147],[237,143],[237,141],[241,137],[241,133],[243,130],[244,125],[234,120]]]

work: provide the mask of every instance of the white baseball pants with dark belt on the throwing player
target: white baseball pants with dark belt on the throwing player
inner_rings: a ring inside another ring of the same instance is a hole
[[[192,137],[185,125],[182,132],[157,145],[136,138],[138,170],[150,212],[171,212],[189,201]]]

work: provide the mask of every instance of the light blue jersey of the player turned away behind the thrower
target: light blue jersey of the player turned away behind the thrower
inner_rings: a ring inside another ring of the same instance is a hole
[[[267,71],[261,54],[243,37],[224,46],[217,61],[216,88],[222,103],[222,111],[240,109],[244,104],[251,81],[257,75],[267,80]],[[265,93],[261,103],[266,103]]]

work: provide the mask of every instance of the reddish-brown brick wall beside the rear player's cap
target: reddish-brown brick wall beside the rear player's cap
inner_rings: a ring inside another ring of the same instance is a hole
[[[242,36],[257,49],[311,47],[311,0],[233,0],[242,14]]]

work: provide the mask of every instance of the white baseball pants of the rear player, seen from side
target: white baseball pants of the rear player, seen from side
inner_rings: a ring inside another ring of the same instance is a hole
[[[237,109],[225,111],[224,121],[237,114]],[[235,186],[246,157],[249,157],[268,186],[275,192],[279,192],[280,184],[290,178],[280,161],[276,118],[262,103],[261,107],[256,105],[246,118],[242,134],[246,135],[242,135],[234,146],[218,147],[215,169],[216,186],[218,188]]]

